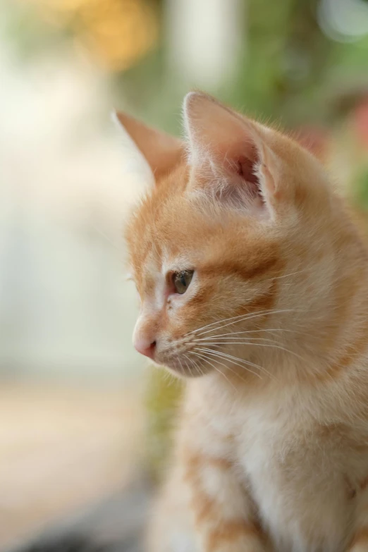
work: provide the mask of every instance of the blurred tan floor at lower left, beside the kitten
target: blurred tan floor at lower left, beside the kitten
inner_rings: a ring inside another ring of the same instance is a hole
[[[1,551],[105,498],[121,500],[140,465],[140,404],[126,384],[0,385]]]

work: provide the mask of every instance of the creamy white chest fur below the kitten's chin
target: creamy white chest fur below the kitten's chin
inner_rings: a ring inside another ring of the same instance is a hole
[[[272,552],[345,551],[354,508],[347,481],[358,463],[367,472],[368,455],[352,458],[346,443],[336,439],[331,419],[312,406],[323,403],[321,398],[314,392],[308,400],[286,389],[226,396],[205,381],[191,391],[190,441],[204,453],[232,460]]]

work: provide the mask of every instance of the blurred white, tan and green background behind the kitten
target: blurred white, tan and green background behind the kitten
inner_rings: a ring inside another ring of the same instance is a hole
[[[180,133],[193,87],[293,132],[365,229],[367,0],[0,0],[0,550],[160,470],[178,390],[144,383],[122,240],[149,174],[110,112]]]

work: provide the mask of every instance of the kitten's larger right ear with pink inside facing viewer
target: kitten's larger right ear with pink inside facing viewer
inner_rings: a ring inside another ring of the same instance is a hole
[[[279,160],[257,124],[202,92],[184,101],[192,185],[259,217],[272,218]]]

